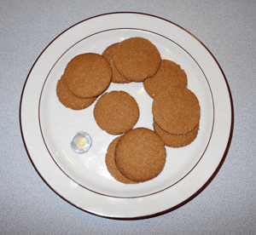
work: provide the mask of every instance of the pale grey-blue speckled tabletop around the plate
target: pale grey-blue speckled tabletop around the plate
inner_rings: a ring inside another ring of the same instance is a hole
[[[209,186],[183,207],[139,221],[90,215],[60,198],[20,134],[20,97],[38,55],[79,21],[120,11],[154,14],[198,37],[222,67],[235,109],[230,150]],[[4,0],[0,15],[0,234],[256,234],[254,0]]]

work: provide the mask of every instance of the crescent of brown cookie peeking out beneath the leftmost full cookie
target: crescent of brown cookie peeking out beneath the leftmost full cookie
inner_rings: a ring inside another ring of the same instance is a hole
[[[56,94],[61,101],[62,105],[67,106],[74,110],[81,110],[88,106],[90,106],[97,97],[81,99],[75,95],[73,95],[69,89],[67,89],[67,85],[61,77],[56,86]]]

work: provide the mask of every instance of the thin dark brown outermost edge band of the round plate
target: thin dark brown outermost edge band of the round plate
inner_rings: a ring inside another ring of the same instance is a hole
[[[90,213],[90,214],[92,214],[92,215],[98,215],[98,216],[102,216],[102,217],[105,217],[105,218],[108,217],[108,218],[110,218],[110,219],[121,219],[121,220],[145,219],[145,218],[148,218],[148,217],[154,217],[154,216],[157,216],[157,215],[163,215],[163,214],[165,214],[165,213],[167,213],[167,212],[170,212],[170,211],[172,211],[172,210],[174,210],[174,209],[179,208],[180,206],[182,206],[182,205],[185,204],[185,203],[188,203],[191,199],[195,198],[198,194],[200,194],[200,193],[211,183],[211,181],[214,179],[214,177],[218,174],[218,171],[219,171],[219,169],[222,167],[222,165],[223,165],[223,163],[224,163],[224,160],[225,160],[225,158],[226,158],[226,156],[227,156],[227,153],[228,153],[228,151],[229,151],[230,143],[231,143],[231,139],[232,139],[232,135],[233,135],[233,128],[234,128],[234,106],[233,106],[233,100],[232,100],[232,95],[231,95],[231,92],[230,92],[230,87],[229,87],[228,81],[227,81],[227,79],[226,79],[226,77],[225,77],[225,75],[224,75],[224,72],[223,72],[221,66],[219,66],[219,64],[218,64],[218,60],[216,60],[216,58],[213,56],[213,54],[211,53],[211,51],[210,51],[209,49],[207,49],[207,47],[206,47],[203,43],[201,43],[201,41],[200,41],[197,37],[195,37],[195,39],[196,39],[199,43],[201,43],[201,45],[202,45],[205,49],[207,49],[208,54],[211,55],[212,59],[215,61],[216,65],[218,66],[218,69],[220,70],[220,72],[222,73],[222,75],[223,75],[223,77],[224,77],[224,82],[225,82],[225,85],[226,85],[226,89],[227,89],[228,94],[229,94],[229,97],[230,97],[230,114],[231,114],[230,116],[231,116],[231,117],[230,117],[230,131],[229,131],[230,134],[229,134],[229,139],[228,139],[228,141],[227,141],[227,146],[225,147],[223,157],[221,158],[221,161],[218,163],[218,167],[214,170],[214,172],[213,172],[213,174],[211,175],[211,177],[203,184],[203,186],[201,186],[201,188],[199,188],[199,189],[198,189],[195,193],[193,193],[189,198],[183,200],[183,202],[178,203],[177,205],[173,206],[172,208],[169,208],[169,209],[166,209],[166,210],[161,210],[160,212],[157,212],[157,213],[154,213],[154,214],[150,214],[150,215],[140,215],[140,216],[135,216],[135,217],[133,217],[133,216],[130,216],[130,217],[122,217],[122,216],[120,216],[120,217],[119,217],[119,216],[99,215],[99,214],[96,214],[96,213],[94,213],[94,212],[91,212],[90,210],[83,209],[83,208],[79,207],[77,204],[75,204],[75,203],[69,201],[67,198],[64,198],[64,196],[62,196],[61,193],[57,192],[52,186],[50,186],[49,182],[44,179],[44,176],[41,174],[41,172],[40,172],[39,169],[37,168],[36,164],[33,162],[32,156],[31,156],[31,154],[30,154],[30,152],[29,152],[29,150],[28,150],[28,147],[26,146],[26,140],[25,140],[25,136],[24,136],[24,130],[22,129],[22,120],[21,120],[22,100],[23,100],[23,97],[24,97],[25,89],[26,89],[26,83],[27,83],[27,81],[28,81],[28,78],[29,78],[30,75],[31,75],[31,72],[32,72],[34,66],[37,64],[37,62],[38,62],[39,58],[41,57],[41,55],[44,54],[44,51],[45,51],[46,49],[48,49],[48,48],[49,48],[49,45],[51,45],[53,42],[55,42],[55,40],[56,40],[58,37],[60,37],[60,36],[61,36],[62,34],[64,34],[65,32],[67,32],[69,29],[71,29],[71,28],[73,28],[73,27],[79,25],[80,23],[83,23],[83,22],[88,21],[88,20],[92,20],[92,19],[94,19],[94,18],[106,16],[106,15],[109,15],[109,14],[139,14],[139,15],[145,15],[145,16],[149,16],[149,17],[154,17],[154,18],[157,18],[157,19],[159,19],[159,20],[165,20],[166,22],[171,23],[172,25],[177,26],[178,28],[182,29],[184,32],[189,33],[190,36],[195,37],[192,33],[190,33],[189,31],[185,30],[182,26],[178,26],[176,23],[173,23],[171,20],[166,20],[166,19],[164,19],[164,18],[161,18],[161,17],[159,17],[159,16],[155,16],[155,15],[153,15],[153,14],[145,14],[145,13],[138,13],[138,12],[114,12],[114,13],[106,13],[106,14],[95,15],[95,16],[92,16],[92,17],[90,17],[90,18],[88,18],[88,19],[79,21],[78,23],[74,24],[73,26],[68,27],[65,31],[61,32],[57,37],[55,37],[55,38],[45,47],[45,49],[41,52],[41,54],[38,55],[37,60],[35,60],[34,64],[32,65],[32,68],[31,68],[31,70],[29,71],[29,73],[28,73],[28,75],[27,75],[27,77],[26,77],[26,82],[25,82],[25,84],[24,84],[24,86],[23,86],[22,93],[21,93],[21,97],[20,97],[20,132],[21,132],[21,136],[22,136],[22,140],[23,140],[24,146],[25,146],[25,148],[26,148],[26,152],[27,152],[27,154],[28,154],[28,157],[30,158],[30,161],[31,161],[31,163],[32,163],[32,165],[33,165],[33,167],[34,167],[34,169],[36,169],[36,171],[38,172],[38,175],[39,175],[39,176],[41,177],[41,179],[46,183],[46,185],[49,186],[49,188],[50,188],[53,192],[55,192],[59,197],[61,197],[61,198],[64,199],[65,201],[67,201],[67,203],[71,203],[71,204],[72,204],[73,206],[75,206],[76,208],[81,209],[81,210],[83,210],[83,211],[86,211],[87,213]]]

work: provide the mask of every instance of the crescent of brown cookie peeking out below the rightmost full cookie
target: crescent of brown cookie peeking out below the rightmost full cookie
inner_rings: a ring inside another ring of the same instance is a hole
[[[166,146],[171,147],[182,147],[188,146],[196,138],[196,135],[199,130],[199,123],[195,126],[195,129],[192,129],[184,135],[172,135],[160,128],[157,123],[153,123],[154,131],[160,136],[164,141]]]

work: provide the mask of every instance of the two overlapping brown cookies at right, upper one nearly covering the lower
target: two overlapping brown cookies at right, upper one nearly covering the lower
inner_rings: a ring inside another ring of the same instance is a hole
[[[152,112],[154,131],[160,135],[166,146],[187,146],[195,140],[201,108],[195,94],[189,89],[163,89],[155,95]]]

